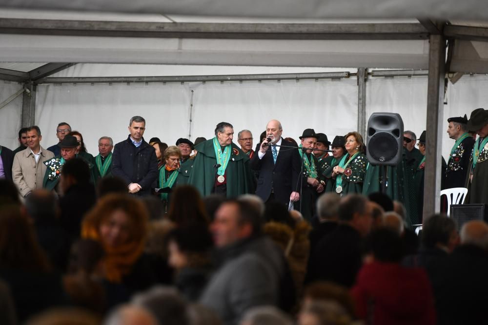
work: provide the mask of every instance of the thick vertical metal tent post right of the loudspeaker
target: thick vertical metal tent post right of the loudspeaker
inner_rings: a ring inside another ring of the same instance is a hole
[[[427,83],[426,166],[424,171],[424,222],[440,211],[442,173],[442,121],[446,77],[446,39],[431,35]]]

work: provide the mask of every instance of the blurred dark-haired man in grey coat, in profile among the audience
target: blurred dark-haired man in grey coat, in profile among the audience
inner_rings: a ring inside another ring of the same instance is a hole
[[[201,303],[225,325],[238,324],[252,307],[276,306],[285,260],[278,246],[261,234],[259,215],[245,203],[229,200],[215,213],[211,231],[221,266]]]

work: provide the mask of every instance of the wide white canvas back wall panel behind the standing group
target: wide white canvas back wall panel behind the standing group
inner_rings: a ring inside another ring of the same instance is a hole
[[[36,105],[36,123],[43,130],[44,145],[57,142],[56,126],[66,121],[83,134],[91,153],[97,152],[102,135],[112,136],[115,142],[126,138],[133,115],[146,119],[146,140],[158,136],[170,145],[179,137],[210,138],[221,121],[234,125],[234,142],[242,129],[251,130],[257,141],[271,118],[281,120],[284,136],[296,139],[305,128],[345,134],[357,125],[355,79],[41,85]]]

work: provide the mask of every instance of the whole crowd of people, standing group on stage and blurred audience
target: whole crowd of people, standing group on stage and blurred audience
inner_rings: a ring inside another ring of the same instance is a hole
[[[145,123],[96,156],[65,122],[48,149],[37,126],[0,147],[1,324],[484,323],[488,225],[424,220],[425,131],[382,193],[357,132],[296,142],[271,120],[253,150],[230,123],[174,146]],[[488,111],[447,133],[443,187],[487,203]]]

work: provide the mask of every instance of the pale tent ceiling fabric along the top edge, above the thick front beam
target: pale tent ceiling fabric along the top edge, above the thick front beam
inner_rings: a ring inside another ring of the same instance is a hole
[[[0,6],[194,16],[488,19],[483,0],[1,0]]]

